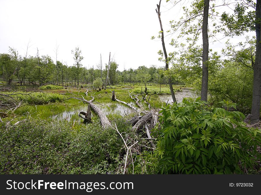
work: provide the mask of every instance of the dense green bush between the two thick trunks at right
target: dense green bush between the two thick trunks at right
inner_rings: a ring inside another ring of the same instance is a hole
[[[222,79],[220,79],[222,78]],[[238,109],[250,113],[252,103],[253,69],[237,63],[227,63],[209,81],[209,101],[218,106],[223,99],[236,103]]]

